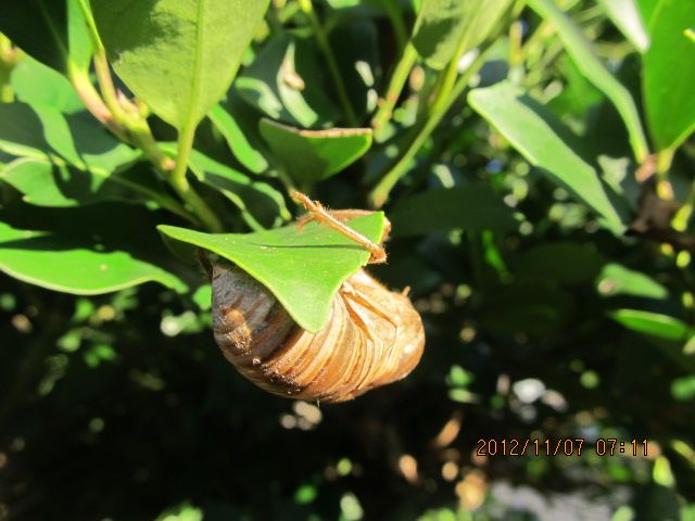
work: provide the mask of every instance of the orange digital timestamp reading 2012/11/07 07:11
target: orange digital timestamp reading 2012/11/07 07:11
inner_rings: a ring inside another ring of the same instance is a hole
[[[591,450],[598,456],[646,456],[648,440],[618,440],[617,437],[559,437],[556,440],[484,439],[478,440],[478,456],[581,456]]]

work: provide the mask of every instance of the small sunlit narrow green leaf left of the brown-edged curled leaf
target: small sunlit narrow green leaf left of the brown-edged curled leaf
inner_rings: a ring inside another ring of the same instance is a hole
[[[250,128],[251,125],[256,126],[258,119],[251,107],[236,96],[231,96],[224,105],[215,106],[208,117],[243,166],[254,174],[262,174],[268,169],[268,162],[258,150],[261,140],[253,139],[258,130]]]

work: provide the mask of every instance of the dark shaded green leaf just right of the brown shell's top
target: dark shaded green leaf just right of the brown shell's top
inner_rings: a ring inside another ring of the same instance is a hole
[[[389,214],[393,237],[464,230],[506,232],[515,227],[513,212],[486,185],[441,188],[401,199]]]

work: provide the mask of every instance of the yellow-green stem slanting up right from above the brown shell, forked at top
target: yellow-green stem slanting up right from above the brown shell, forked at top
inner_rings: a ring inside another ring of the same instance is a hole
[[[441,87],[438,91],[437,99],[432,103],[429,116],[421,127],[416,127],[416,134],[407,145],[405,153],[393,164],[386,173],[381,180],[369,194],[370,204],[380,208],[389,199],[389,194],[401,178],[408,171],[410,162],[415,158],[420,148],[432,135],[437,126],[440,124],[448,109],[454,104],[456,99],[464,92],[470,78],[478,73],[485,62],[486,52],[481,52],[466,72],[456,80],[456,68],[450,67],[444,72]],[[458,59],[455,60],[456,64]],[[455,81],[455,82],[454,82]]]

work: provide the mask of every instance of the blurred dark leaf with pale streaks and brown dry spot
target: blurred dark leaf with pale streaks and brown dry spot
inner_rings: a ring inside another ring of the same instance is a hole
[[[269,40],[235,82],[239,96],[266,116],[303,128],[334,122],[325,85],[315,47],[287,34]]]

